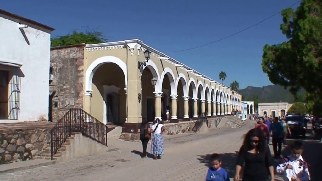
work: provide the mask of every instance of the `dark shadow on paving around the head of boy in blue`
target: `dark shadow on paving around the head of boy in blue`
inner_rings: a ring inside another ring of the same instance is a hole
[[[239,152],[235,152],[235,153],[222,153],[221,158],[222,158],[222,167],[228,172],[228,176],[229,177],[234,177],[235,175],[235,167],[236,167],[236,161],[237,161],[237,157],[238,157],[238,153]],[[198,155],[199,158],[197,158],[200,163],[204,163],[205,167],[209,168],[210,163],[210,156],[211,154],[207,154],[207,155]]]

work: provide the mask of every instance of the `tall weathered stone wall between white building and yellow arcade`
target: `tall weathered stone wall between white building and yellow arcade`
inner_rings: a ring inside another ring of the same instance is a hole
[[[85,44],[51,49],[50,81],[52,121],[57,122],[71,108],[83,108]]]

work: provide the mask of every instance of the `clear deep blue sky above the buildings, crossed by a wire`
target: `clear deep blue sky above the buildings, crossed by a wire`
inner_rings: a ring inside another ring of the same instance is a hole
[[[111,41],[140,39],[161,52],[210,43],[236,33],[298,0],[14,0],[0,8],[56,30],[97,29]],[[296,5],[298,6],[298,5]],[[172,58],[225,85],[238,81],[240,88],[270,85],[261,69],[262,47],[286,40],[279,30],[280,15],[223,41],[185,52],[166,53]]]

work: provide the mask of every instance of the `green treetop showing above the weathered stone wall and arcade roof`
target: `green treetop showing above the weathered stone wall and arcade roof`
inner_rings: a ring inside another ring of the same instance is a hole
[[[107,39],[101,32],[87,30],[85,33],[83,33],[74,30],[71,34],[52,38],[51,47],[74,45],[81,43],[95,44],[104,42],[107,42]]]

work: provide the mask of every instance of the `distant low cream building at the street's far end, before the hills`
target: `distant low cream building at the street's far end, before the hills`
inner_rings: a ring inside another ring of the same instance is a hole
[[[287,102],[259,103],[258,114],[272,117],[285,116],[293,104]]]

